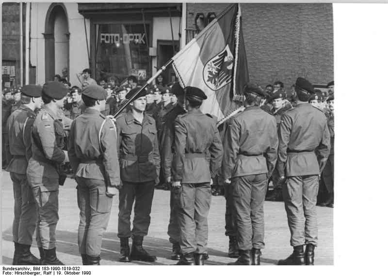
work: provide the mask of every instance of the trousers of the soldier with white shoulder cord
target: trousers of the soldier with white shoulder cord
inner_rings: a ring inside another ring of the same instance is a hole
[[[106,195],[105,181],[76,177],[80,208],[78,247],[81,254],[99,256],[102,235],[108,226],[113,197]]]

